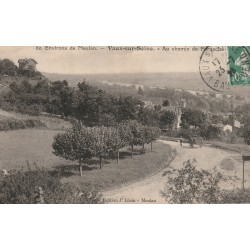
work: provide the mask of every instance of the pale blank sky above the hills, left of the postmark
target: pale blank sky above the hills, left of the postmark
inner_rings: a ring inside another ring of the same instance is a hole
[[[97,50],[38,50],[36,47],[0,47],[0,59],[8,58],[18,65],[18,59],[33,58],[37,70],[59,74],[197,72],[201,50],[176,51],[176,48],[155,47],[154,51]],[[157,50],[159,48],[159,50]]]

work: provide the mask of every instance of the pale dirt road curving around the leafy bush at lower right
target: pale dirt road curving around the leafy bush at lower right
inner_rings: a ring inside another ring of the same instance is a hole
[[[204,146],[202,148],[190,148],[188,144],[183,147],[179,146],[177,142],[160,140],[162,143],[169,144],[173,149],[176,149],[176,157],[171,162],[171,166],[175,169],[182,168],[183,162],[188,159],[195,158],[197,167],[212,170],[214,167],[231,176],[240,178],[235,182],[235,187],[242,185],[242,161],[241,155],[238,153],[231,153],[221,149]],[[103,194],[104,201],[108,203],[165,203],[164,198],[161,197],[160,191],[164,189],[167,177],[163,176],[166,169],[151,176],[145,180],[136,182],[134,184],[108,191]],[[246,187],[250,187],[250,164],[245,167]],[[232,188],[232,184],[224,185],[225,188]]]

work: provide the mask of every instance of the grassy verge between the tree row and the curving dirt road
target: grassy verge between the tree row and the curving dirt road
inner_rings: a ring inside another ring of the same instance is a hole
[[[116,163],[116,159],[108,159],[100,170],[96,162],[92,169],[86,168],[82,177],[75,172],[74,175],[64,178],[64,181],[83,183],[103,191],[141,180],[163,169],[172,152],[169,145],[160,142],[154,144],[153,152],[150,152],[148,145],[146,147],[146,154],[140,154],[138,151],[131,159],[127,151],[124,152],[126,156],[119,164]]]

